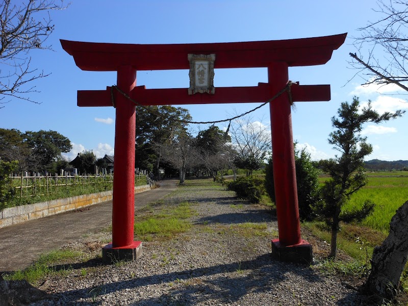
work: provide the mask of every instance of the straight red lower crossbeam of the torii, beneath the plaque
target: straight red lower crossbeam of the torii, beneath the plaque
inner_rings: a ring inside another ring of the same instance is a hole
[[[330,100],[330,85],[294,84],[291,91],[294,102]],[[114,92],[116,97],[118,93]],[[260,83],[253,87],[217,87],[213,95],[189,95],[187,88],[145,89],[138,86],[130,96],[141,105],[264,103],[270,99],[270,89],[268,83]],[[107,90],[79,90],[77,97],[78,106],[112,106],[111,87]]]

